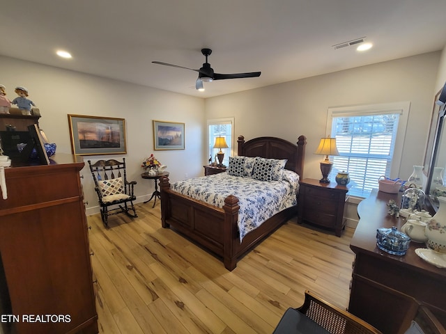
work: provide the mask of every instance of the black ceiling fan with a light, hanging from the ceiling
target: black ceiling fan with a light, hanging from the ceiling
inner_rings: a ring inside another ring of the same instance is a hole
[[[203,67],[199,70],[194,70],[193,68],[178,66],[168,63],[162,63],[161,61],[153,61],[154,64],[166,65],[171,67],[184,68],[185,70],[192,70],[198,72],[198,78],[195,83],[195,88],[198,90],[203,90],[203,82],[210,82],[213,80],[222,80],[222,79],[240,79],[240,78],[253,78],[260,77],[261,72],[247,72],[247,73],[233,73],[233,74],[220,74],[215,73],[213,68],[210,67],[210,63],[208,63],[208,56],[212,53],[211,49],[201,49],[201,54],[206,57],[206,63],[203,63]]]

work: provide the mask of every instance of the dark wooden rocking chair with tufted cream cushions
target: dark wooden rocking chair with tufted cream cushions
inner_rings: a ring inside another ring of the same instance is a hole
[[[125,158],[123,161],[99,160],[91,164],[89,160],[91,175],[95,182],[95,191],[98,193],[100,216],[105,227],[108,228],[108,216],[111,214],[127,214],[129,217],[137,217],[134,210],[133,187],[136,181],[128,182],[125,174]],[[108,207],[118,205],[114,209]],[[133,214],[130,212],[133,212]]]

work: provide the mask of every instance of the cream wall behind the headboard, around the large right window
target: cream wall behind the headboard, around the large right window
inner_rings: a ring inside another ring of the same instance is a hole
[[[440,52],[353,68],[206,100],[206,118],[235,118],[236,136],[307,136],[305,177],[320,178],[314,154],[325,136],[328,107],[410,101],[398,175],[407,180],[422,164]],[[378,186],[378,183],[377,183]]]

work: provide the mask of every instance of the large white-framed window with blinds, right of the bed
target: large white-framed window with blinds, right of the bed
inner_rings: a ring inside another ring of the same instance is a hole
[[[381,175],[397,177],[409,102],[330,108],[331,136],[339,156],[332,157],[333,180],[348,171],[353,196],[367,197]]]

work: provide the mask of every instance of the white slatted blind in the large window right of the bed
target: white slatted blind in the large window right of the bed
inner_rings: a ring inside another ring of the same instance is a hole
[[[354,196],[367,197],[378,187],[381,175],[390,175],[397,139],[399,111],[381,113],[333,113],[331,136],[336,138],[339,156],[332,157],[333,170],[348,171]]]

